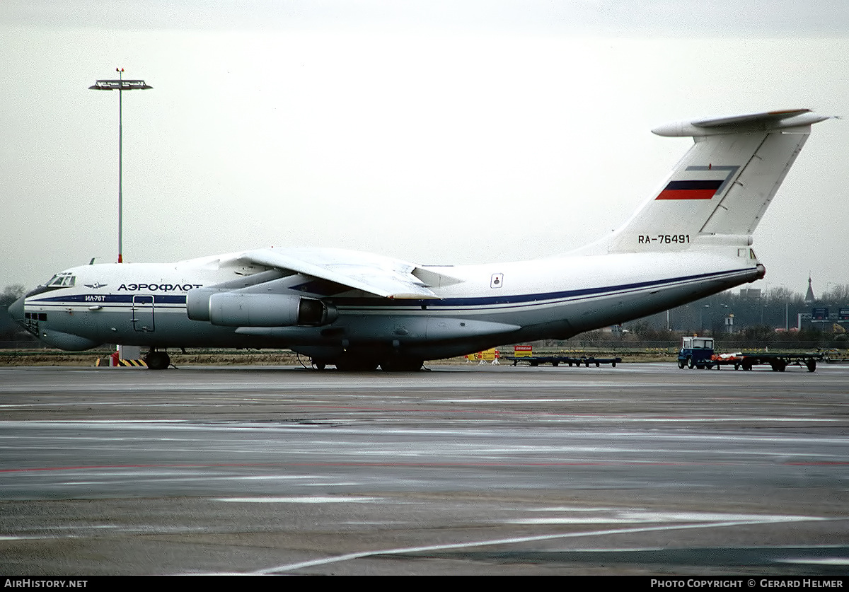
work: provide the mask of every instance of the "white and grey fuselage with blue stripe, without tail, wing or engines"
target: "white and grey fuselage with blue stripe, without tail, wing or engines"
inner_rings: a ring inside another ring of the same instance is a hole
[[[174,264],[83,265],[65,271],[74,278],[72,287],[28,295],[25,324],[63,349],[99,343],[289,347],[327,359],[347,350],[395,349],[428,360],[503,343],[568,338],[762,276],[749,249],[723,250],[728,254],[693,249],[423,267],[453,278],[451,285],[428,287],[438,299],[385,299],[354,290],[312,293],[309,278],[287,277],[284,288],[276,289],[323,298],[338,310],[334,321],[320,327],[222,327],[189,319],[189,290],[263,271],[228,265],[233,255]]]

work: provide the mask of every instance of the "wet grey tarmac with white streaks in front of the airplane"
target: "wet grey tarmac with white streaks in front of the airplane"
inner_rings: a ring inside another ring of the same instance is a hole
[[[849,573],[849,367],[0,368],[0,572]]]

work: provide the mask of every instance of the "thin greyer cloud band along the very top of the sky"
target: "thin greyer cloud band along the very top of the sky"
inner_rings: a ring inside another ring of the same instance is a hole
[[[835,36],[843,0],[6,0],[3,20],[107,30],[502,31],[663,36]]]

